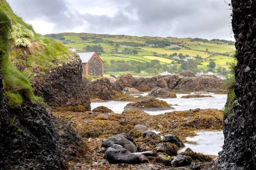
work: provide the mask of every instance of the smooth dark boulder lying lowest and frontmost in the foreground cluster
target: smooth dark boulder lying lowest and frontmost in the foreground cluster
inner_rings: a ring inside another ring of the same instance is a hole
[[[130,153],[125,148],[108,147],[104,158],[111,164],[140,164],[140,156]]]

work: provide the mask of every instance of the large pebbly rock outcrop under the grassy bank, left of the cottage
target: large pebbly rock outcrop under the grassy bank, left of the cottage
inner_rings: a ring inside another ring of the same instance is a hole
[[[84,105],[90,111],[90,96],[82,80],[81,59],[78,54],[67,56],[67,63],[47,71],[44,79],[35,77],[35,95],[44,98],[49,106]]]

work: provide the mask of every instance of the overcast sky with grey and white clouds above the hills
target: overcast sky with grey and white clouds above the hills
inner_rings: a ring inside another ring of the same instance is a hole
[[[7,0],[36,32],[234,40],[224,0]],[[230,0],[227,0],[227,2]]]

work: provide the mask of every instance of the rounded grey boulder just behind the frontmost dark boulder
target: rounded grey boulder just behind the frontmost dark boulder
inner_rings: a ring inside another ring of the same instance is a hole
[[[113,144],[119,144],[125,149],[129,150],[131,153],[137,152],[137,147],[135,144],[131,143],[124,136],[112,136],[102,142],[102,147],[108,148],[112,147]],[[116,146],[116,145],[114,145]]]

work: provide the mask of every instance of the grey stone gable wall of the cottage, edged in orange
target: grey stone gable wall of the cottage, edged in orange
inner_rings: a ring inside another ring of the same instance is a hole
[[[94,60],[94,56],[96,56],[96,61]],[[103,64],[99,57],[97,57],[96,54],[93,55],[93,57],[88,61],[88,75],[97,77],[97,76],[103,76]]]

